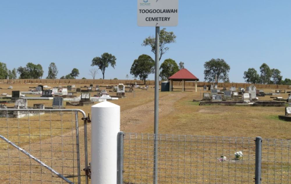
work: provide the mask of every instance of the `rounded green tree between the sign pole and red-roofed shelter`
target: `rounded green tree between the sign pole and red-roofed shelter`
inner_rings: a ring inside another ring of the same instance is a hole
[[[160,66],[160,77],[162,80],[167,80],[174,73],[179,71],[178,64],[173,59],[166,59]]]

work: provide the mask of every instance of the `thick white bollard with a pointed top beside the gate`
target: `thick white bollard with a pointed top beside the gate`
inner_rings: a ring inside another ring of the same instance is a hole
[[[120,106],[100,102],[91,107],[91,183],[116,184]]]

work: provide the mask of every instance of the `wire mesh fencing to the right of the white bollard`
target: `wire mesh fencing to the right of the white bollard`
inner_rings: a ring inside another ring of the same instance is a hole
[[[158,135],[158,142],[158,183],[254,183],[254,138]],[[289,144],[263,140],[262,183],[289,183]],[[125,134],[124,183],[152,183],[153,145],[153,134]]]

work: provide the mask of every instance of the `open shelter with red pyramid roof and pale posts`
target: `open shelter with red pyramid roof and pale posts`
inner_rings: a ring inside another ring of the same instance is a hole
[[[197,81],[199,81],[199,79],[186,68],[179,70],[169,77],[168,80],[170,82],[170,91],[173,91],[173,81],[182,81],[182,91],[185,91],[185,81],[193,81],[195,82],[195,92],[197,92]]]

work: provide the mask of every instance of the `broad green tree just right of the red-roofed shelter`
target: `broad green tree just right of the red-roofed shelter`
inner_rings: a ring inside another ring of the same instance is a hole
[[[204,79],[209,82],[229,81],[230,66],[223,59],[211,59],[204,64]]]

